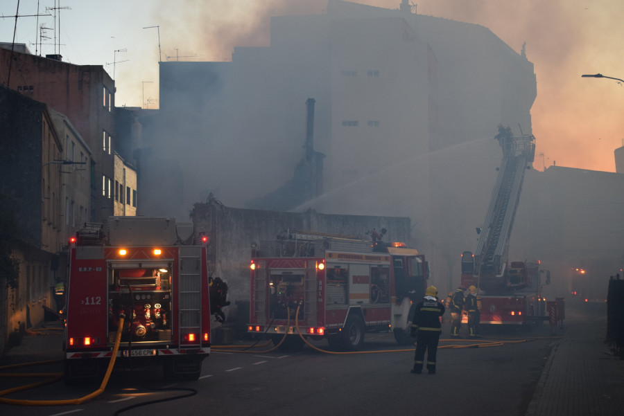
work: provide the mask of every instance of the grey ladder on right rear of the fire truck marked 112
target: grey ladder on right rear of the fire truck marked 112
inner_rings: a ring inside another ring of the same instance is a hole
[[[202,248],[180,246],[180,284],[178,286],[180,315],[178,345],[187,334],[196,335],[196,343],[184,340],[185,348],[201,347],[202,332]]]

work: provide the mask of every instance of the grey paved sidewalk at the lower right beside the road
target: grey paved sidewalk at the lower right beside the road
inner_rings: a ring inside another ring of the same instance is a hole
[[[606,334],[606,314],[566,323],[526,416],[624,414],[624,359],[605,344]]]

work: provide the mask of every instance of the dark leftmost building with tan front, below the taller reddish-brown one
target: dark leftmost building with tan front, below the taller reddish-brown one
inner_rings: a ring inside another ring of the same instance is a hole
[[[17,235],[11,257],[19,278],[0,296],[6,313],[0,351],[13,334],[44,320],[53,307],[55,256],[64,230],[64,148],[49,109],[17,91],[0,88],[0,193],[12,201]]]

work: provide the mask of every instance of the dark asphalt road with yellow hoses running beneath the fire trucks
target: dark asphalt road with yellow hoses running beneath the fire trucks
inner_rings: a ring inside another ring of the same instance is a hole
[[[448,326],[444,328],[447,334]],[[453,348],[468,342],[441,341],[437,374],[433,375],[426,371],[411,374],[413,348],[399,347],[392,334],[366,334],[367,352],[363,354],[327,354],[308,346],[299,352],[267,352],[269,347],[255,348],[253,352],[214,349],[204,361],[198,381],[171,383],[162,379],[157,367],[117,371],[103,394],[84,404],[0,405],[0,412],[6,416],[114,415],[127,406],[187,396],[131,408],[121,415],[367,416],[417,415],[424,411],[524,415],[555,343],[550,328],[543,325],[531,332],[497,330],[484,335],[504,343]],[[313,344],[327,349],[327,341]],[[51,364],[39,371],[61,370],[60,364]],[[2,388],[6,383],[2,381]],[[10,397],[70,399],[87,395],[97,387],[67,387],[59,381]]]

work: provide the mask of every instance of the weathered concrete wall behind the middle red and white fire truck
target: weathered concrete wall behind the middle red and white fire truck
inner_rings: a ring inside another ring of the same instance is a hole
[[[365,239],[368,230],[386,228],[384,241],[402,241],[412,246],[411,221],[407,217],[327,215],[315,210],[248,210],[229,208],[212,198],[206,204],[196,204],[191,219],[196,236],[205,233],[210,237],[210,275],[222,278],[229,287],[228,300],[232,306],[225,310],[228,321],[236,317],[236,302],[249,302],[252,242],[275,239],[280,230],[296,228],[334,235],[359,235]]]

